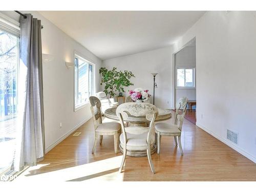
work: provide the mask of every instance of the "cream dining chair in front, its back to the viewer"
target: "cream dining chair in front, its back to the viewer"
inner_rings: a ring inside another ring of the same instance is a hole
[[[122,172],[127,150],[146,150],[151,170],[153,173],[156,173],[151,159],[151,147],[153,147],[155,144],[154,122],[158,115],[158,110],[156,106],[151,103],[142,102],[123,103],[117,107],[116,114],[120,119],[122,127],[122,134],[120,135],[120,146],[123,149],[123,158],[121,166],[119,168],[119,172]],[[150,121],[150,125],[148,127],[126,127],[124,121],[126,121],[129,116],[133,116],[133,118],[138,118],[138,122],[141,118],[146,118],[148,121]]]

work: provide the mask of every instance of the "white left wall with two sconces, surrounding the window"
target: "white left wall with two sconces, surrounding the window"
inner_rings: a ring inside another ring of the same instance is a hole
[[[18,16],[13,11],[4,11],[13,19]],[[44,29],[42,35],[42,53],[51,54],[54,59],[43,63],[45,137],[48,152],[60,139],[91,118],[90,104],[74,112],[73,69],[67,69],[65,61],[72,62],[74,50],[95,63],[96,89],[99,91],[99,68],[101,60],[71,37],[62,32],[36,11],[28,11],[41,19]],[[61,129],[59,128],[62,123]]]

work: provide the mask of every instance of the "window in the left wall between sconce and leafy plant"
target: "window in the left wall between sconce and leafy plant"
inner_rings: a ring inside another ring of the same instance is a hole
[[[80,109],[89,101],[93,94],[94,64],[75,54],[75,110]]]

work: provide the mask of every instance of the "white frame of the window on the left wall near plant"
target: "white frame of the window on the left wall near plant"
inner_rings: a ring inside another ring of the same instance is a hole
[[[76,77],[78,78],[78,75],[76,75],[76,66],[75,66],[75,58],[79,58],[85,62],[88,62],[91,66],[92,66],[92,93],[91,95],[94,95],[95,94],[95,64],[93,61],[91,61],[90,59],[84,57],[82,54],[80,54],[79,52],[77,51],[74,51],[74,58],[73,58],[73,62],[74,62],[74,111],[77,111],[79,109],[82,109],[84,108],[84,106],[86,106],[88,103],[89,103],[89,100],[79,104],[79,105],[76,105],[76,91],[77,91],[77,86],[78,86],[78,83],[76,84],[77,82],[77,79],[75,79]],[[88,65],[88,71],[89,71],[89,65]],[[78,71],[77,71],[78,72]],[[88,76],[88,81],[89,81],[89,76]]]

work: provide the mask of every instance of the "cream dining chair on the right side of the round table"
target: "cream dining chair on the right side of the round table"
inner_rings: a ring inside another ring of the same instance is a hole
[[[181,155],[183,155],[183,150],[181,146],[181,131],[182,131],[182,124],[183,124],[186,111],[187,111],[187,98],[182,97],[178,100],[176,104],[174,124],[166,123],[166,122],[156,123],[155,133],[156,133],[156,143],[157,143],[158,154],[160,153],[161,136],[163,135],[163,136],[174,136],[176,146],[178,145],[177,143],[177,137],[178,137],[180,153]]]

